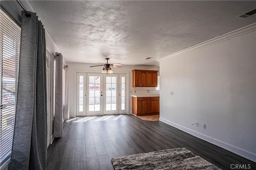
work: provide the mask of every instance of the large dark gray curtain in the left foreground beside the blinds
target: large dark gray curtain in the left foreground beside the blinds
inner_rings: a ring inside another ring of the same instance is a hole
[[[46,169],[45,31],[36,13],[22,11],[20,66],[11,170]]]

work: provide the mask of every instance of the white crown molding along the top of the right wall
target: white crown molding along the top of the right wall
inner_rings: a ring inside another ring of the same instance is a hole
[[[209,39],[207,41],[204,41],[200,44],[197,44],[197,45],[194,45],[192,47],[189,47],[187,49],[184,49],[184,50],[181,50],[181,51],[178,51],[176,53],[172,53],[170,55],[167,55],[165,57],[162,57],[160,59],[157,59],[156,61],[160,62],[160,61],[163,61],[165,59],[169,59],[169,58],[172,58],[172,57],[175,57],[175,56],[178,56],[178,55],[181,55],[181,54],[184,54],[184,53],[188,53],[188,52],[191,52],[191,51],[195,51],[195,50],[198,50],[198,49],[202,49],[204,47],[207,47],[207,46],[210,46],[210,45],[214,45],[216,43],[220,43],[222,41],[226,41],[228,39],[232,39],[234,37],[238,37],[240,35],[244,35],[246,33],[250,33],[252,31],[256,31],[256,23],[252,23],[250,25],[247,25],[245,27],[242,27],[242,28],[239,28],[239,29],[236,29],[234,31],[231,31],[229,33],[226,33],[226,34],[223,34],[223,35],[220,35],[218,37],[215,37],[213,39]]]

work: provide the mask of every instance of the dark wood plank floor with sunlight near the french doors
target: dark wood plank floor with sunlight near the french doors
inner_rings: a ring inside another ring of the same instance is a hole
[[[48,148],[48,170],[111,170],[111,158],[186,147],[223,170],[231,164],[250,164],[225,149],[160,121],[134,115],[79,117],[64,123],[63,136]]]

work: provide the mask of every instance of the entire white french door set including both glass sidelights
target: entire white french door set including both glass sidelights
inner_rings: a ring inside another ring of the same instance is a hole
[[[77,73],[76,115],[127,113],[127,75]]]

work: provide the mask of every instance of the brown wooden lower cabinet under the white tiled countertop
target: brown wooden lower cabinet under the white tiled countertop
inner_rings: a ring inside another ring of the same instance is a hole
[[[134,115],[158,115],[159,107],[159,97],[132,97],[132,113]]]

